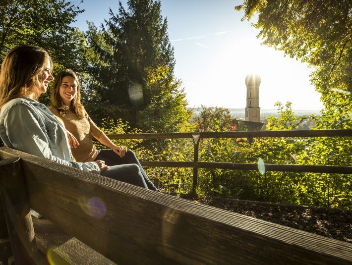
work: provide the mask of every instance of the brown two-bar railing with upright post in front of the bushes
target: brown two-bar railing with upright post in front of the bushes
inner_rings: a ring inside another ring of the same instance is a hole
[[[194,143],[193,162],[187,161],[141,161],[149,167],[193,167],[192,190],[198,183],[198,168],[222,168],[239,170],[258,170],[257,163],[201,162],[199,161],[199,141],[203,138],[260,138],[260,137],[352,137],[352,129],[341,130],[293,130],[293,131],[240,131],[240,132],[188,132],[188,133],[140,133],[110,134],[112,140],[118,139],[181,139],[191,138]],[[352,166],[334,165],[292,165],[264,164],[266,171],[341,173],[352,174]]]

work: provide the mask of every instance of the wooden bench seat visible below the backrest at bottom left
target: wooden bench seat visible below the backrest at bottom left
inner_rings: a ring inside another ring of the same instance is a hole
[[[33,218],[33,226],[38,249],[47,254],[51,264],[115,265],[47,219]]]

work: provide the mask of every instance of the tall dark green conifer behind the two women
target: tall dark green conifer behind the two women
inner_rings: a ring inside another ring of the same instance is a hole
[[[167,33],[167,19],[161,15],[159,0],[129,0],[127,9],[118,2],[118,12],[110,8],[110,18],[102,25],[109,50],[98,51],[103,65],[97,71],[102,103],[114,106],[118,117],[137,124],[138,112],[151,105],[153,91],[143,91],[144,101],[133,104],[128,88],[138,84],[143,90],[150,69],[168,68],[165,80],[173,80],[175,58]],[[174,86],[178,90],[178,86]],[[159,92],[158,89],[155,93]],[[148,94],[148,95],[147,95]]]

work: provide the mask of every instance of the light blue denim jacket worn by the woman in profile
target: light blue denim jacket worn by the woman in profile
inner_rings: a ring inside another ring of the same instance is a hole
[[[20,97],[0,109],[0,137],[10,148],[84,171],[100,173],[95,162],[73,161],[65,128],[43,104]]]

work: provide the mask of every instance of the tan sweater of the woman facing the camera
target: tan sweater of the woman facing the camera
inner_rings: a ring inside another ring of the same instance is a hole
[[[68,110],[65,116],[60,116],[58,109],[55,107],[50,106],[49,109],[51,112],[53,112],[54,115],[62,119],[66,130],[72,133],[74,137],[76,137],[79,146],[77,146],[77,148],[71,149],[72,155],[76,161],[94,161],[98,155],[98,151],[93,144],[92,135],[98,139],[102,134],[102,131],[90,119],[89,115],[86,113],[85,118],[79,119],[78,116],[71,110]]]

